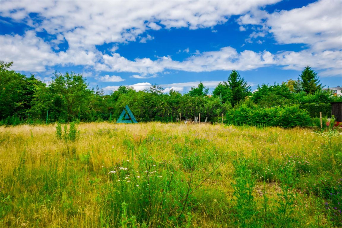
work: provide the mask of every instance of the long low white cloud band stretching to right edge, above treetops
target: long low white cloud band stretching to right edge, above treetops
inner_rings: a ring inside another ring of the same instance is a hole
[[[260,41],[262,42],[262,41]],[[159,57],[152,61],[149,58],[137,58],[130,61],[115,53],[105,55],[104,64],[97,65],[98,70],[137,72],[134,78],[149,78],[158,72],[183,70],[189,72],[209,72],[214,70],[253,70],[265,66],[283,66],[284,69],[300,70],[306,64],[322,71],[336,72],[341,69],[341,51],[325,51],[313,53],[308,50],[301,52],[280,52],[272,54],[268,51],[254,52],[245,50],[240,53],[232,47],[224,47],[219,51],[202,52],[188,57],[182,62],[174,61],[169,56]]]

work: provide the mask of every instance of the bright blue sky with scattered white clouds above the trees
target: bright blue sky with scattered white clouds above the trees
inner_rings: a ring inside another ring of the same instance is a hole
[[[159,84],[210,91],[238,70],[251,85],[308,64],[342,85],[342,1],[0,0],[0,59],[49,82],[74,71],[106,93]]]

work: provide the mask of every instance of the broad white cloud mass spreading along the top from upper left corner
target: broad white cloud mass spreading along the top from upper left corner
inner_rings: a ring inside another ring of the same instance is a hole
[[[274,2],[15,0],[1,1],[0,12],[1,16],[24,21],[37,31],[61,33],[72,48],[89,49],[103,43],[135,41],[148,29],[159,30],[161,25],[167,29],[213,27],[225,23],[231,15]],[[37,13],[42,21],[33,23],[30,13]]]

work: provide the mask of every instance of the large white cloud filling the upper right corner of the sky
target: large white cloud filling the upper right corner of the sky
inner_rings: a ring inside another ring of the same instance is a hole
[[[262,25],[278,44],[303,43],[314,52],[342,49],[342,1],[317,1],[302,8],[268,14],[259,9],[239,17],[240,25]],[[264,37],[253,32],[250,38]],[[247,40],[249,41],[249,40]]]

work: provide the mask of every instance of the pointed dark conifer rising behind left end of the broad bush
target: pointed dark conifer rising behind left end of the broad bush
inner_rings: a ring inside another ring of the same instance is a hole
[[[229,74],[227,83],[229,89],[232,91],[230,102],[233,107],[251,94],[251,86],[247,85],[247,82],[245,82],[244,78],[236,70],[233,70]]]

